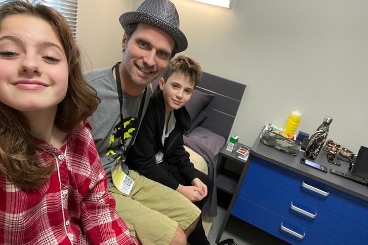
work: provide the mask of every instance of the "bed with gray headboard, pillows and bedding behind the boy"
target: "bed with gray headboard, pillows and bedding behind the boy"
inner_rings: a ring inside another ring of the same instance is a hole
[[[155,89],[159,79],[152,82]],[[184,134],[186,151],[195,167],[209,175],[216,186],[217,155],[225,146],[245,92],[245,84],[204,72],[186,108],[192,118],[191,128]],[[214,189],[215,190],[215,189]],[[217,215],[217,195],[202,210],[206,234],[211,218]]]

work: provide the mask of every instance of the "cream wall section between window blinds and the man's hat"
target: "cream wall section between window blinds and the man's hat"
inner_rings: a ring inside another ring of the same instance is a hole
[[[132,10],[133,0],[78,0],[77,41],[82,47],[85,70],[112,66],[122,60],[122,13]]]

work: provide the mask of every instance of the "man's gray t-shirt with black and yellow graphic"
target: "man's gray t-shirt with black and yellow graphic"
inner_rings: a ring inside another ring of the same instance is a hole
[[[114,186],[111,169],[116,164],[116,160],[123,154],[123,144],[120,130],[120,103],[117,84],[113,76],[112,67],[87,71],[84,78],[88,84],[96,91],[101,103],[97,110],[89,118],[93,127],[91,131],[98,154],[100,155],[102,166],[107,175],[107,187]],[[147,95],[144,102],[143,112],[140,120],[147,109],[149,99],[152,94],[152,86],[147,86]],[[142,102],[143,92],[140,96],[130,96],[123,91],[123,121],[124,121],[124,144],[125,149],[130,144],[132,134],[137,131],[140,125],[138,122],[139,106]],[[133,141],[134,142],[134,141]]]

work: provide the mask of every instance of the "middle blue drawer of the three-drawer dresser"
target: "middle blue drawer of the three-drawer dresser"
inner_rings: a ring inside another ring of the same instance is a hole
[[[342,244],[368,245],[367,228],[246,176],[239,196]]]

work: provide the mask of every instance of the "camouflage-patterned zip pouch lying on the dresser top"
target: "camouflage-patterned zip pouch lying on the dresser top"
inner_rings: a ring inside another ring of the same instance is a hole
[[[274,147],[282,152],[296,156],[300,150],[301,143],[290,140],[274,132],[265,131],[261,135],[261,143]]]

